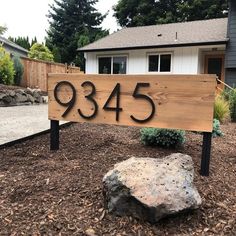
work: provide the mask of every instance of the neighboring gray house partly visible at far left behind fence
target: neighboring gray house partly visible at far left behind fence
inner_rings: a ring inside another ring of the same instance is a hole
[[[3,48],[6,49],[6,51],[9,52],[11,55],[18,55],[22,57],[28,56],[28,50],[13,43],[12,41],[6,38],[3,38],[2,36],[0,36],[0,44],[2,44]]]

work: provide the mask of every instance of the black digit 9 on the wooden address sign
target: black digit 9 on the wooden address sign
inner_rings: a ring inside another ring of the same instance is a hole
[[[68,86],[72,90],[72,97],[71,97],[70,101],[68,101],[68,102],[62,102],[58,98],[58,89],[62,86]],[[62,114],[62,117],[65,117],[70,112],[70,110],[73,108],[73,106],[75,105],[75,101],[76,101],[75,87],[68,81],[61,81],[56,85],[56,87],[54,89],[54,97],[55,97],[55,100],[57,101],[57,103],[59,103],[63,107],[67,107],[66,111]]]

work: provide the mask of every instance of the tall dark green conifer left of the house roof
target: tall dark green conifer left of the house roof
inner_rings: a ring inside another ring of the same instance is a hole
[[[105,16],[94,8],[97,1],[55,0],[55,4],[50,5],[46,45],[57,53],[61,62],[82,66],[82,55],[78,59],[77,54],[78,44],[80,46],[82,41],[91,43],[97,35],[108,34],[99,27]],[[83,36],[87,37],[86,41]]]

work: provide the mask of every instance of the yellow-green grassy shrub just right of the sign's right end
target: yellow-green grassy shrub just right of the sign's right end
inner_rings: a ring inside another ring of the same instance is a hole
[[[220,122],[224,122],[229,118],[229,103],[223,96],[217,96],[214,104],[214,118]]]

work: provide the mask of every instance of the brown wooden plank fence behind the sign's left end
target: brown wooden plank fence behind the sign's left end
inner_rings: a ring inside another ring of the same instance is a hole
[[[83,73],[79,67],[21,57],[24,74],[21,86],[47,91],[48,73]]]

